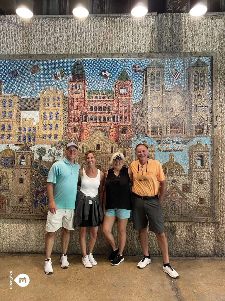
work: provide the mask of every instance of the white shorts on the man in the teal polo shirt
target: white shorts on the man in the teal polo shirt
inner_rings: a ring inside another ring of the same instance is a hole
[[[45,230],[55,232],[61,227],[74,230],[74,216],[74,209],[57,209],[55,214],[48,211]]]

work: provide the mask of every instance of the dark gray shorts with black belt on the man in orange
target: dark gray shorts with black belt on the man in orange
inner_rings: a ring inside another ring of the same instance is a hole
[[[163,213],[162,205],[158,197],[154,199],[143,200],[132,195],[132,222],[135,230],[147,228],[149,221],[149,230],[155,233],[163,233]]]

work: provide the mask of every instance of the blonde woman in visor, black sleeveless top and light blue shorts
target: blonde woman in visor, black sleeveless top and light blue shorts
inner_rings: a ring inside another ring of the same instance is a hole
[[[110,160],[113,168],[105,174],[102,231],[112,247],[108,258],[111,265],[119,265],[120,262],[124,261],[123,250],[126,243],[126,227],[131,212],[130,182],[133,184],[133,175],[131,170],[123,166],[124,161],[125,158],[122,153],[113,154]],[[116,244],[111,232],[116,219],[119,245]]]

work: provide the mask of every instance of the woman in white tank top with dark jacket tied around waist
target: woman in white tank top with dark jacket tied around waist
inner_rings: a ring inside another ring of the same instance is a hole
[[[89,214],[87,219],[87,216],[85,216],[85,210],[87,209],[88,204],[86,204],[85,208],[83,207],[82,209],[82,217],[81,217],[82,222],[78,225],[79,244],[83,256],[82,263],[86,268],[91,268],[92,265],[97,265],[97,261],[94,259],[92,255],[92,250],[95,246],[97,233],[98,233],[98,226],[100,225],[100,221],[98,221],[96,227],[92,226],[93,225],[92,206],[95,206],[96,203],[99,203],[100,201],[99,207],[102,207],[104,173],[95,167],[95,162],[97,160],[97,157],[94,151],[87,151],[84,158],[88,167],[79,170],[79,179],[81,181],[81,187],[80,187],[81,193],[79,194],[82,196],[85,195],[86,202],[89,200]],[[93,202],[95,202],[95,204],[93,204]],[[102,208],[99,209],[102,211]],[[76,213],[76,206],[75,206],[75,216],[76,214],[77,213]],[[88,252],[86,252],[87,227],[89,227],[89,231],[90,231]]]

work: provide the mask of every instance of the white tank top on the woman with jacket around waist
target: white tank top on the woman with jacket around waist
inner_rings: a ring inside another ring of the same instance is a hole
[[[100,170],[98,169],[98,174],[95,178],[89,178],[83,168],[83,175],[80,179],[80,191],[85,194],[85,196],[95,197],[98,194],[98,187],[100,185]],[[92,204],[92,200],[89,200],[89,204]]]

